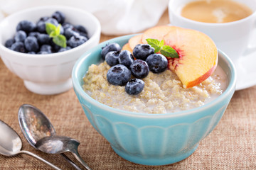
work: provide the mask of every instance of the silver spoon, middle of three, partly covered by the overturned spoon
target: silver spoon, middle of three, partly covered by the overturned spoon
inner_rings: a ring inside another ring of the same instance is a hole
[[[26,140],[35,149],[37,149],[35,145],[38,140],[43,137],[56,134],[50,120],[48,120],[46,115],[44,115],[43,112],[41,112],[35,106],[23,104],[18,109],[18,122]],[[75,169],[81,170],[80,167],[65,154],[60,155],[63,156],[63,158],[65,158],[70,164],[72,164]]]

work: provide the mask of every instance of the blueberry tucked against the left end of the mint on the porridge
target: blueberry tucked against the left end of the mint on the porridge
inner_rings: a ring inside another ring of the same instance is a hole
[[[145,61],[146,57],[154,54],[154,47],[151,47],[151,45],[148,44],[138,44],[134,47],[132,53],[136,59]]]

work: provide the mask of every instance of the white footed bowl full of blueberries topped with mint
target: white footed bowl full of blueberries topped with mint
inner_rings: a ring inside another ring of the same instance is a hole
[[[100,42],[100,32],[97,18],[79,8],[28,8],[1,21],[1,59],[29,91],[60,94],[72,88],[73,65]]]

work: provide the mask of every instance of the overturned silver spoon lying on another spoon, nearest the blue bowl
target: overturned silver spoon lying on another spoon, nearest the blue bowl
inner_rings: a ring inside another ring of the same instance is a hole
[[[91,170],[90,167],[82,159],[82,157],[80,157],[80,154],[78,153],[78,145],[80,145],[78,140],[57,135],[43,137],[41,140],[36,142],[36,147],[42,152],[46,152],[48,154],[61,154],[64,152],[71,152],[82,164],[82,166],[88,170]]]

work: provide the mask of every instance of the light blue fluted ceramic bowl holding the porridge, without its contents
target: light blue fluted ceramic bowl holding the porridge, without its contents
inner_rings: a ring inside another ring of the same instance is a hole
[[[102,42],[82,55],[73,67],[73,89],[92,126],[119,156],[146,165],[179,162],[191,155],[218,124],[235,91],[235,67],[223,52],[218,51],[218,64],[228,75],[228,88],[218,98],[198,108],[166,114],[132,113],[111,108],[83,91],[82,77],[91,64],[100,62],[101,47],[109,42],[122,46],[132,36]]]

